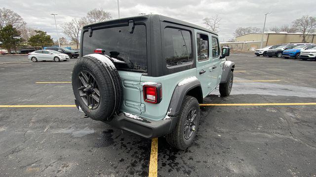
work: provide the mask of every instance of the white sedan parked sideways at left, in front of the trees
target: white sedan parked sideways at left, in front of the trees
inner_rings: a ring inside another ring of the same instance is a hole
[[[38,50],[29,53],[28,58],[33,62],[40,60],[66,61],[69,59],[69,56],[54,50]]]

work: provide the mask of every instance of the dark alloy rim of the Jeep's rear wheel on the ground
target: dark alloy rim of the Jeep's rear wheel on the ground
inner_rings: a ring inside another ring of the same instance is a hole
[[[189,140],[196,130],[197,126],[197,110],[192,108],[184,122],[184,138]]]

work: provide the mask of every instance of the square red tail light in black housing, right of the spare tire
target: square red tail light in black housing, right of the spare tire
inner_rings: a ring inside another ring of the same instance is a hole
[[[161,84],[144,85],[143,92],[145,102],[158,104],[162,100]]]

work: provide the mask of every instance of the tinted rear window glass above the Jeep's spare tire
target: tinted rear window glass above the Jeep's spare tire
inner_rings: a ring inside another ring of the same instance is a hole
[[[128,26],[93,30],[83,34],[82,55],[93,54],[95,49],[124,62],[116,62],[117,69],[147,71],[146,27],[135,25],[133,33]]]

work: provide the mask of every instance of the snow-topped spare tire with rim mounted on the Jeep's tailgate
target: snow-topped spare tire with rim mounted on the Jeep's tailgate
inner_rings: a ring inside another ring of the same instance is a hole
[[[118,112],[123,90],[118,71],[112,61],[100,54],[77,60],[72,85],[77,104],[94,120],[110,121]]]

